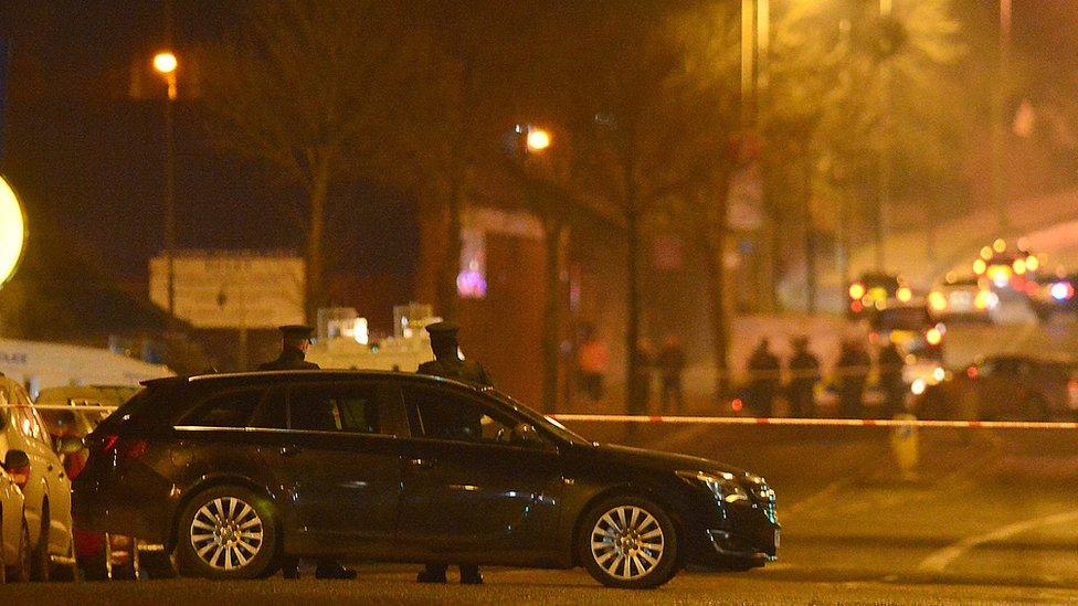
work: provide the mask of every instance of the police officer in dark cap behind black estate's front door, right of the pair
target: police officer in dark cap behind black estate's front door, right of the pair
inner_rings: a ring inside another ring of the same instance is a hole
[[[426,332],[431,336],[431,349],[434,350],[434,360],[423,362],[416,372],[420,374],[433,374],[457,381],[466,381],[478,385],[493,386],[487,372],[478,363],[471,360],[461,360],[459,345],[457,344],[456,333],[459,328],[452,322],[437,322],[426,327]],[[462,413],[465,413],[462,411]],[[464,434],[478,436],[482,427],[478,418],[457,418],[452,421],[457,425],[455,429]],[[426,570],[420,573],[416,581],[420,583],[445,583],[445,570],[447,564],[427,564]],[[479,566],[475,564],[461,564],[461,583],[465,585],[479,585],[483,583],[483,575],[479,574]]]

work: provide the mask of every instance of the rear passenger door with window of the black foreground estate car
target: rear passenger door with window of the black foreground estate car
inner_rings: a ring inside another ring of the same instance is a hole
[[[408,425],[385,389],[374,380],[298,383],[283,394],[288,430],[277,453],[305,551],[392,551],[401,493],[398,435]]]

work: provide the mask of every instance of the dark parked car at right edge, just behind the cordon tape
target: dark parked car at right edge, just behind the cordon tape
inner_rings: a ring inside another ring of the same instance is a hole
[[[1076,364],[1032,355],[993,355],[948,373],[917,404],[922,418],[1049,421],[1078,416]]]

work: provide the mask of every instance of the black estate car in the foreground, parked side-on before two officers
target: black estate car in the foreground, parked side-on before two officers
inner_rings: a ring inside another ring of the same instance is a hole
[[[77,524],[175,549],[181,571],[273,574],[282,554],[584,566],[655,587],[779,543],[762,478],[599,445],[489,390],[404,373],[146,383],[87,438]]]

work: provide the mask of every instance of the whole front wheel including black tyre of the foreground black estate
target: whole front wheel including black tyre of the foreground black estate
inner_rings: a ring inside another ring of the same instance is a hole
[[[584,514],[578,555],[607,587],[648,589],[677,574],[677,531],[662,507],[640,497],[613,497]]]

